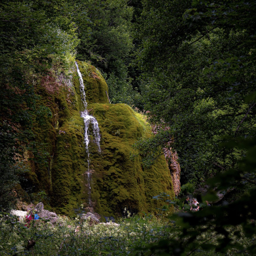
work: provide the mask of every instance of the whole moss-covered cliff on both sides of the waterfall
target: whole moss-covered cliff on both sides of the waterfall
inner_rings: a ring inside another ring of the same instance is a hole
[[[84,62],[78,62],[78,66],[88,113],[98,120],[101,152],[94,143],[90,124],[88,168],[76,70],[71,80],[52,79],[49,75],[38,86],[38,93],[52,117],[34,128],[36,141],[49,156],[46,165],[30,160],[31,171],[26,178],[31,188],[34,192],[46,191],[49,204],[62,214],[72,214],[81,204],[104,216],[121,216],[124,208],[133,213],[154,212],[160,202],[152,200],[152,196],[166,192],[174,197],[166,160],[162,156],[151,168],[142,167],[140,158],[130,160],[132,144],[142,136],[150,136],[150,127],[129,106],[108,104],[108,87],[96,68]],[[90,173],[90,180],[86,173]]]

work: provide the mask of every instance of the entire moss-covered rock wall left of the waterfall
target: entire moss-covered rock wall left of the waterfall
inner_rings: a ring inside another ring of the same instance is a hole
[[[83,144],[84,123],[79,112],[80,94],[74,87],[67,86],[59,86],[52,93],[40,84],[36,85],[36,92],[41,96],[38,105],[48,106],[52,111],[52,117],[45,117],[44,124],[34,126],[39,150],[48,153],[48,163],[30,161],[28,180],[37,191],[47,192],[54,210],[72,215],[81,198],[87,195],[83,175],[87,157]]]

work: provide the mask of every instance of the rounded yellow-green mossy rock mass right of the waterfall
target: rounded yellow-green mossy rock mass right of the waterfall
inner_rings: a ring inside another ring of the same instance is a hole
[[[170,172],[162,156],[151,168],[141,159],[130,160],[132,144],[149,136],[150,127],[125,104],[89,104],[101,133],[101,154],[92,148],[92,200],[96,211],[105,216],[155,212],[159,202],[152,200],[161,192],[174,196]]]

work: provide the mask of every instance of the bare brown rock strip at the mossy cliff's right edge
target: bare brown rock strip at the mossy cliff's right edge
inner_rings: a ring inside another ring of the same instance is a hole
[[[180,164],[178,162],[178,154],[175,150],[164,148],[164,156],[169,167],[175,196],[180,194]]]

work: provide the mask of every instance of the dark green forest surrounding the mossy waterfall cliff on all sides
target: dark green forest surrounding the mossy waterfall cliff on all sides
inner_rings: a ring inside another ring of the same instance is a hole
[[[166,202],[164,212],[178,213],[168,215],[163,235],[135,244],[131,255],[255,255],[255,14],[252,0],[2,1],[2,212],[15,208],[15,186],[29,187],[24,152],[38,166],[50,165],[48,142],[35,134],[54,113],[35,84],[46,75],[68,79],[79,60],[99,70],[112,104],[127,104],[158,127],[134,143],[131,159],[150,168],[156,149],[171,146],[178,154],[181,194],[155,195]],[[183,196],[194,188],[203,189],[201,202],[215,202],[221,192],[226,203],[184,212]],[[40,189],[29,195],[48,196]],[[121,251],[116,255],[127,255]]]

